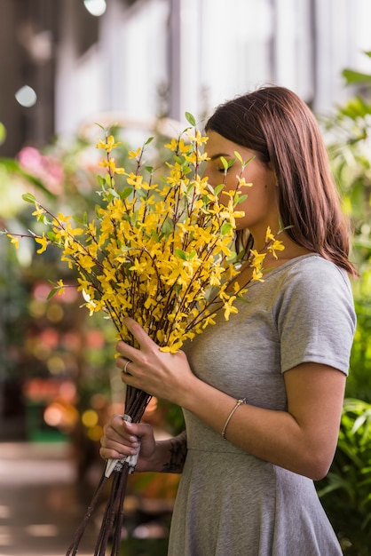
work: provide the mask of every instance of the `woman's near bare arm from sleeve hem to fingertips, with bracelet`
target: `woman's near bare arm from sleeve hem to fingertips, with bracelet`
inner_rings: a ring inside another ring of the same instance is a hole
[[[140,350],[124,342],[117,344],[122,357],[116,365],[123,369],[126,361],[132,361],[130,374],[122,372],[122,380],[192,411],[222,433],[236,400],[195,377],[185,353],[162,353],[138,323],[128,319],[127,326]],[[242,404],[225,437],[256,457],[319,480],[334,457],[345,376],[327,365],[303,363],[284,377],[288,410]]]

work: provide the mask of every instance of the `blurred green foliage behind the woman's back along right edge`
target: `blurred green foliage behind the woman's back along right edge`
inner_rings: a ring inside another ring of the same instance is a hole
[[[366,52],[371,58],[371,52]],[[359,94],[324,122],[328,153],[353,227],[352,257],[357,330],[338,447],[328,477],[318,485],[321,501],[344,554],[367,556],[371,545],[371,75],[343,71]]]

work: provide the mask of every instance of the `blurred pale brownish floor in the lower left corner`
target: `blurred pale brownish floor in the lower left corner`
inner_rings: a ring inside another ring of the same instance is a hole
[[[75,485],[68,446],[0,443],[0,556],[65,556],[89,502]],[[79,556],[94,553],[86,531]]]

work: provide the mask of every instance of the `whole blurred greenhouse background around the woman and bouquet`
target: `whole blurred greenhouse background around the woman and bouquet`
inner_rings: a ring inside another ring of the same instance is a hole
[[[201,127],[265,83],[318,116],[361,273],[339,448],[318,488],[343,552],[358,556],[371,554],[370,21],[369,0],[0,0],[2,230],[33,226],[27,192],[94,210],[96,123],[136,149],[176,136],[186,111]],[[51,282],[75,278],[58,254],[1,237],[0,257],[0,555],[59,556],[102,468],[102,425],[122,412],[114,330],[73,288],[48,300]],[[157,401],[145,418],[159,435],[182,427]],[[177,480],[131,479],[122,553],[166,553]]]

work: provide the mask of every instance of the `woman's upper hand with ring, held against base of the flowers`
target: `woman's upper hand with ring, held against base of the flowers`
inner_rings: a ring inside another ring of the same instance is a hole
[[[122,340],[117,343],[120,357],[115,364],[122,371],[122,382],[162,400],[182,405],[183,393],[192,387],[193,381],[198,380],[193,375],[186,353],[162,352],[138,322],[127,317],[124,324],[140,348],[129,346]]]

